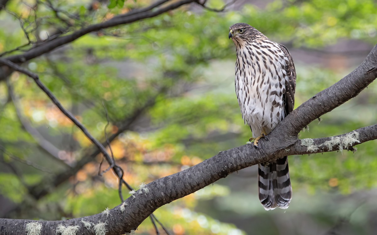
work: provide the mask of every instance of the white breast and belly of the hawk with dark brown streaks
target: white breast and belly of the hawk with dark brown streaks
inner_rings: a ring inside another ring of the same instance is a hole
[[[270,133],[285,117],[283,93],[288,76],[283,68],[286,62],[279,54],[273,60],[264,60],[257,53],[252,56],[241,49],[237,55],[237,63],[241,66],[236,63],[236,94],[242,118],[255,138],[262,131]],[[245,58],[249,63],[244,63]]]

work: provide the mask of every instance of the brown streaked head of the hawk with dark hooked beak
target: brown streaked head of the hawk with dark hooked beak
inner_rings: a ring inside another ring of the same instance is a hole
[[[248,24],[237,23],[229,27],[229,38],[233,40],[234,44],[242,44],[243,41],[267,37]]]

